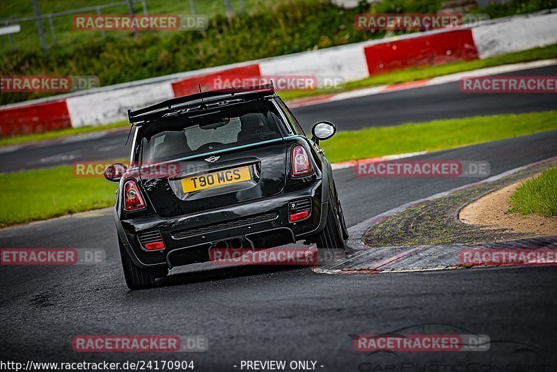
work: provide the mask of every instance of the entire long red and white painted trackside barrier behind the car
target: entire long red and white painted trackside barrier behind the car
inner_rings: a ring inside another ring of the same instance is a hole
[[[547,13],[206,68],[0,107],[0,137],[125,120],[127,109],[195,93],[198,84],[202,90],[214,88],[219,79],[303,75],[319,77],[318,82],[322,77],[350,82],[401,68],[483,59],[556,42],[557,13]]]

